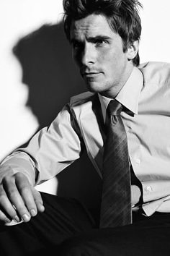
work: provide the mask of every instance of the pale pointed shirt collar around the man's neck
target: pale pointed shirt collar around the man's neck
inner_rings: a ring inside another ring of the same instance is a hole
[[[137,67],[134,67],[128,81],[122,87],[115,99],[125,106],[125,108],[128,108],[128,110],[133,112],[133,114],[138,114],[138,101],[142,88],[143,74]],[[101,103],[104,120],[106,118],[106,108],[111,100],[111,98],[99,94],[99,101]]]

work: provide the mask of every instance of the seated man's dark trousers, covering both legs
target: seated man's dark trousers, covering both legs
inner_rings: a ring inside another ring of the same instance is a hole
[[[0,227],[2,256],[170,255],[169,213],[136,214],[132,225],[98,229],[80,202],[45,193],[42,199],[44,213],[28,223]]]

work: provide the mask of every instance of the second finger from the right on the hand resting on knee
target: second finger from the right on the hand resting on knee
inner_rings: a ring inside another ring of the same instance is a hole
[[[26,205],[27,210],[29,211],[31,216],[37,215],[37,205],[35,203],[35,199],[32,195],[31,185],[27,179],[22,174],[16,174],[15,179],[17,189],[19,194],[24,201],[24,205]]]

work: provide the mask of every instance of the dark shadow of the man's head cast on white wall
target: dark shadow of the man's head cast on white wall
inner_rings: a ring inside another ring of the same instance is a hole
[[[30,90],[27,106],[37,116],[40,128],[50,124],[71,95],[86,90],[61,23],[43,25],[19,40],[13,52],[22,65],[22,82]]]

